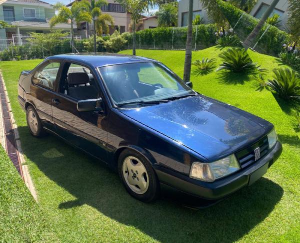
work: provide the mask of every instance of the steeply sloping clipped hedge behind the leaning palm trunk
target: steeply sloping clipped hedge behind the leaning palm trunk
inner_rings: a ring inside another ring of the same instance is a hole
[[[216,2],[232,27],[236,24],[241,14],[243,14],[243,17],[235,26],[234,32],[237,33],[241,40],[244,40],[256,26],[258,20],[228,2],[224,2],[223,0],[216,0]],[[267,24],[264,24],[254,40],[253,46],[267,26]],[[277,27],[270,26],[267,32],[258,41],[257,50],[259,52],[264,52],[265,54],[277,56],[282,51],[282,45],[289,42],[290,36],[287,33],[281,31]]]

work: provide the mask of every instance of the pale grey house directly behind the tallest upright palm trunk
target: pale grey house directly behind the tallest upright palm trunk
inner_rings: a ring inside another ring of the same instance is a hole
[[[211,22],[207,16],[206,9],[202,6],[200,0],[193,0],[193,19],[196,15],[203,17],[203,23]],[[187,26],[188,18],[188,0],[178,1],[178,26]]]

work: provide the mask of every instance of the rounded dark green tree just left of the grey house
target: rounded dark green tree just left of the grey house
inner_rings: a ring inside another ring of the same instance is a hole
[[[171,27],[177,24],[178,8],[172,3],[161,5],[156,12],[159,27]]]

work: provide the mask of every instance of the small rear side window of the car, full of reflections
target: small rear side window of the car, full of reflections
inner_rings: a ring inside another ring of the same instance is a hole
[[[56,80],[59,66],[60,62],[51,62],[46,66],[40,68],[34,73],[32,82],[34,84],[53,90],[53,84]]]

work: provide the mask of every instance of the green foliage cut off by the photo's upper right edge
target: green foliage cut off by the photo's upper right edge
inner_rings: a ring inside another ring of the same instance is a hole
[[[288,26],[293,39],[300,41],[300,2],[299,0],[288,0]]]

